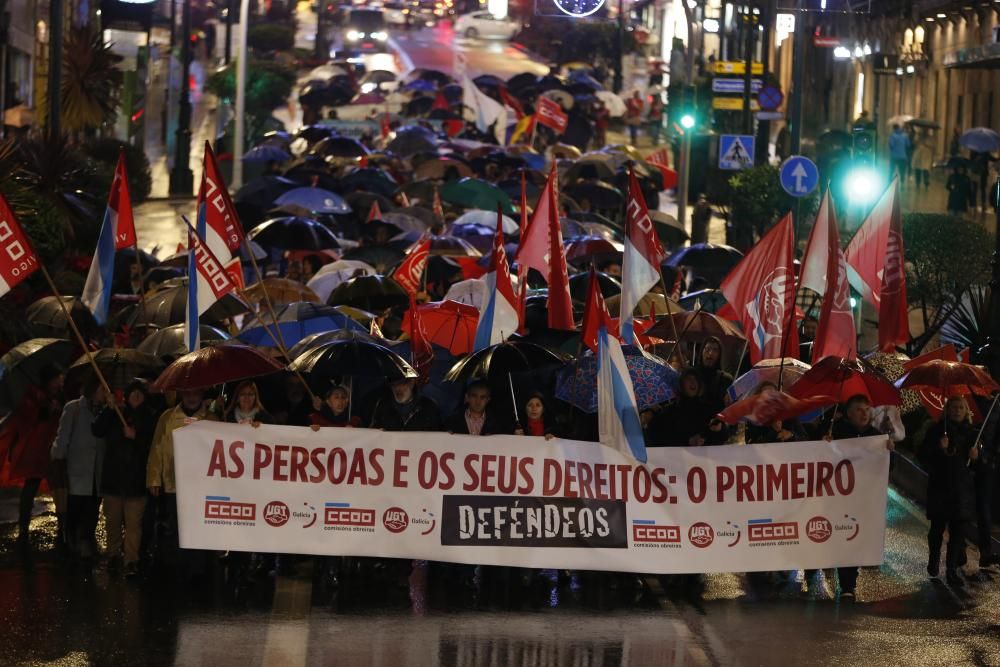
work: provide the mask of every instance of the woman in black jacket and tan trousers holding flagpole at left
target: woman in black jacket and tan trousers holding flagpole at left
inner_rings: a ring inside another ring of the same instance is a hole
[[[133,380],[128,386],[121,410],[127,426],[122,426],[114,409],[107,406],[97,415],[91,431],[106,442],[101,495],[108,531],[108,566],[120,566],[124,555],[125,576],[132,577],[139,572],[146,461],[159,418],[144,380]]]

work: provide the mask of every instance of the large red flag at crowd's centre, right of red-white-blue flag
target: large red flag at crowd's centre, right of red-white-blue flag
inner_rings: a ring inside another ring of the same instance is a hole
[[[549,327],[572,331],[573,302],[569,295],[569,269],[566,266],[566,250],[562,243],[562,229],[559,227],[559,207],[556,199],[557,178],[555,166],[549,172],[545,188],[538,198],[535,214],[528,229],[521,235],[517,249],[520,265],[536,269],[549,286]]]

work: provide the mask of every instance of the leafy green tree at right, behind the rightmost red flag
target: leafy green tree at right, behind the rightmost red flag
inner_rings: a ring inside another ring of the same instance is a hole
[[[920,311],[923,332],[907,344],[920,352],[967,300],[973,285],[989,279],[993,239],[978,222],[940,213],[903,216],[906,296]]]

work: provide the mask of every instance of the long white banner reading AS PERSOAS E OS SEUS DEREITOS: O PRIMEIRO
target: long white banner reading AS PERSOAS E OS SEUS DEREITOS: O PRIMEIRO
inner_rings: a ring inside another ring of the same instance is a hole
[[[878,565],[885,437],[650,449],[196,422],[181,546],[621,572]]]

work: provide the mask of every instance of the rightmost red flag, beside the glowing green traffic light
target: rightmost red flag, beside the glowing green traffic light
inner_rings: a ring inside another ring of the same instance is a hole
[[[892,352],[910,338],[898,179],[861,224],[845,256],[860,278],[861,295],[878,309],[879,349]]]

